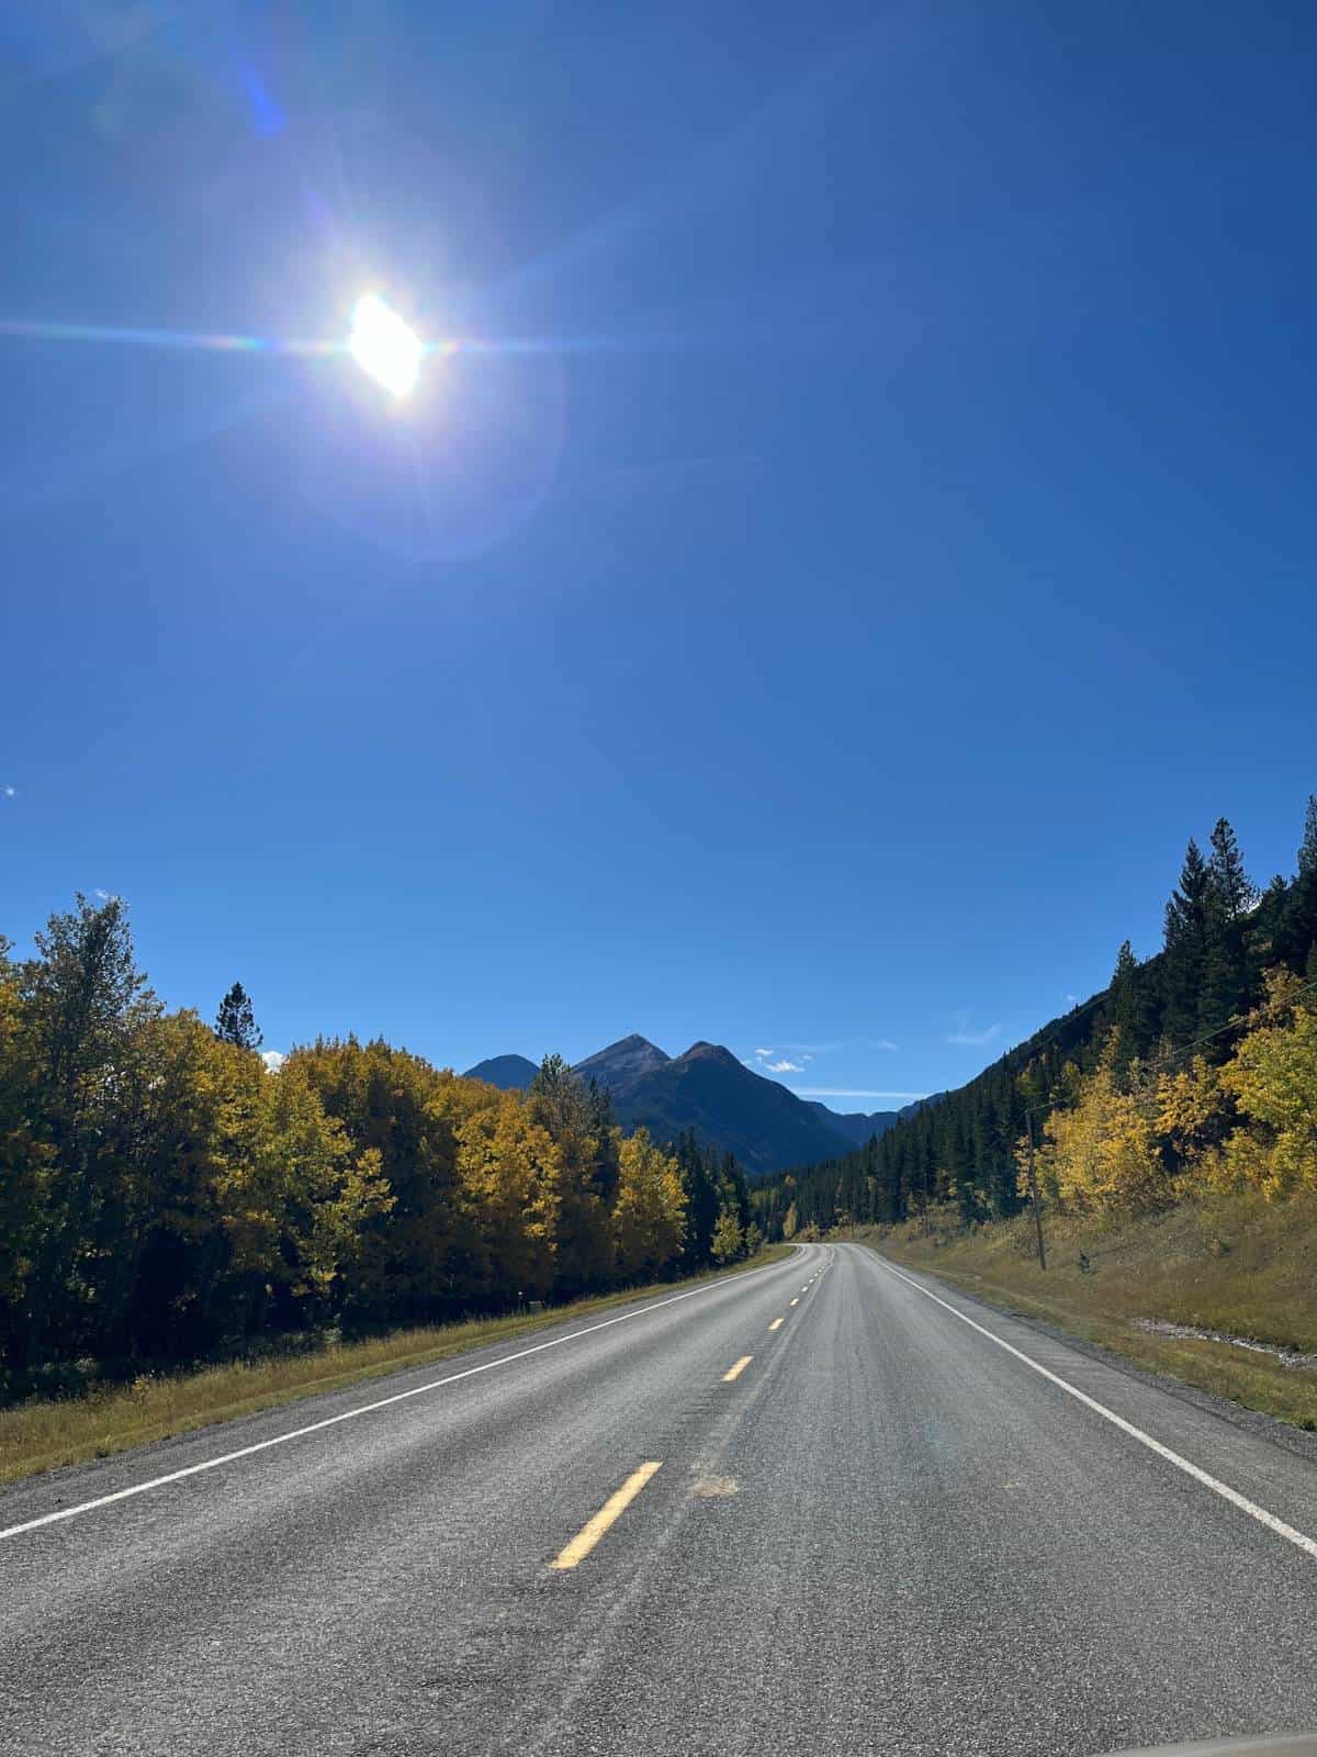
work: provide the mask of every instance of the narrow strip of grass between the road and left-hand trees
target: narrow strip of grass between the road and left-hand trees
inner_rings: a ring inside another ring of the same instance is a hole
[[[748,1263],[711,1270],[688,1281],[650,1288],[623,1288],[597,1298],[572,1300],[543,1312],[509,1312],[423,1330],[395,1330],[363,1342],[337,1342],[314,1353],[260,1362],[234,1362],[198,1372],[148,1376],[132,1385],[105,1386],[86,1397],[32,1399],[0,1409],[0,1483],[53,1471],[84,1458],[107,1458],[130,1446],[188,1434],[216,1421],[255,1414],[277,1404],[337,1392],[402,1367],[448,1360],[486,1342],[507,1342],[550,1325],[637,1298],[662,1298],[723,1276],[745,1274],[787,1256],[790,1246],[773,1244]]]

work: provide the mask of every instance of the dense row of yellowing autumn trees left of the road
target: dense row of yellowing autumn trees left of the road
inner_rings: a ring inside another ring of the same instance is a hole
[[[562,1056],[527,1093],[355,1037],[272,1072],[241,986],[214,1026],[165,1010],[118,898],[79,896],[12,952],[0,938],[0,1395],[760,1246],[732,1160],[625,1137]]]

